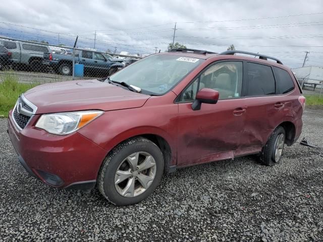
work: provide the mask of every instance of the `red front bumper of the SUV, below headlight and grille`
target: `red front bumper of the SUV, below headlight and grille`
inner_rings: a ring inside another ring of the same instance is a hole
[[[91,189],[107,151],[75,132],[66,136],[48,134],[34,127],[34,115],[23,130],[8,118],[8,134],[19,161],[32,176],[57,188]]]

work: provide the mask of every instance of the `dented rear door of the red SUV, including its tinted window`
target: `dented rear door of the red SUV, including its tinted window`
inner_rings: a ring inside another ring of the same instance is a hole
[[[247,106],[245,126],[237,155],[261,151],[277,126],[282,104],[270,65],[246,62],[242,92]]]

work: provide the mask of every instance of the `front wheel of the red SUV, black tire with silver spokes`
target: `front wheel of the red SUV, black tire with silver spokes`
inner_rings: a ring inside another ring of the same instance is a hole
[[[136,158],[135,154],[138,153],[140,154]],[[147,154],[152,158],[148,158]],[[133,159],[134,164],[136,163],[135,160],[138,160],[136,170],[132,170],[134,166],[130,165],[129,157]],[[149,160],[149,162],[143,162],[143,160]],[[152,165],[153,162],[154,165],[150,168],[141,169]],[[118,173],[126,172],[127,176],[130,172],[131,176],[123,179],[125,176],[117,175],[117,171]],[[163,172],[164,157],[160,149],[153,142],[143,137],[132,138],[120,143],[104,159],[97,177],[98,189],[107,200],[117,206],[136,204],[153,192],[159,184]],[[152,176],[153,178],[151,178]],[[146,179],[147,177],[149,179]],[[146,188],[142,185],[143,178],[146,181]],[[134,190],[131,189],[132,181]]]

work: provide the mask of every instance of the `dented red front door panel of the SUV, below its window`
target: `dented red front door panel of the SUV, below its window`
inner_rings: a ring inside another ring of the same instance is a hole
[[[192,103],[179,103],[178,166],[230,159],[240,146],[245,113],[244,99],[202,103],[192,110]]]

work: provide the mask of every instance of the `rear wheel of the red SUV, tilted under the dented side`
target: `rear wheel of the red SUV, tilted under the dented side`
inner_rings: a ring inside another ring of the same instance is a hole
[[[283,127],[279,126],[274,130],[260,154],[260,160],[263,164],[273,166],[280,162],[284,151],[285,137]]]

